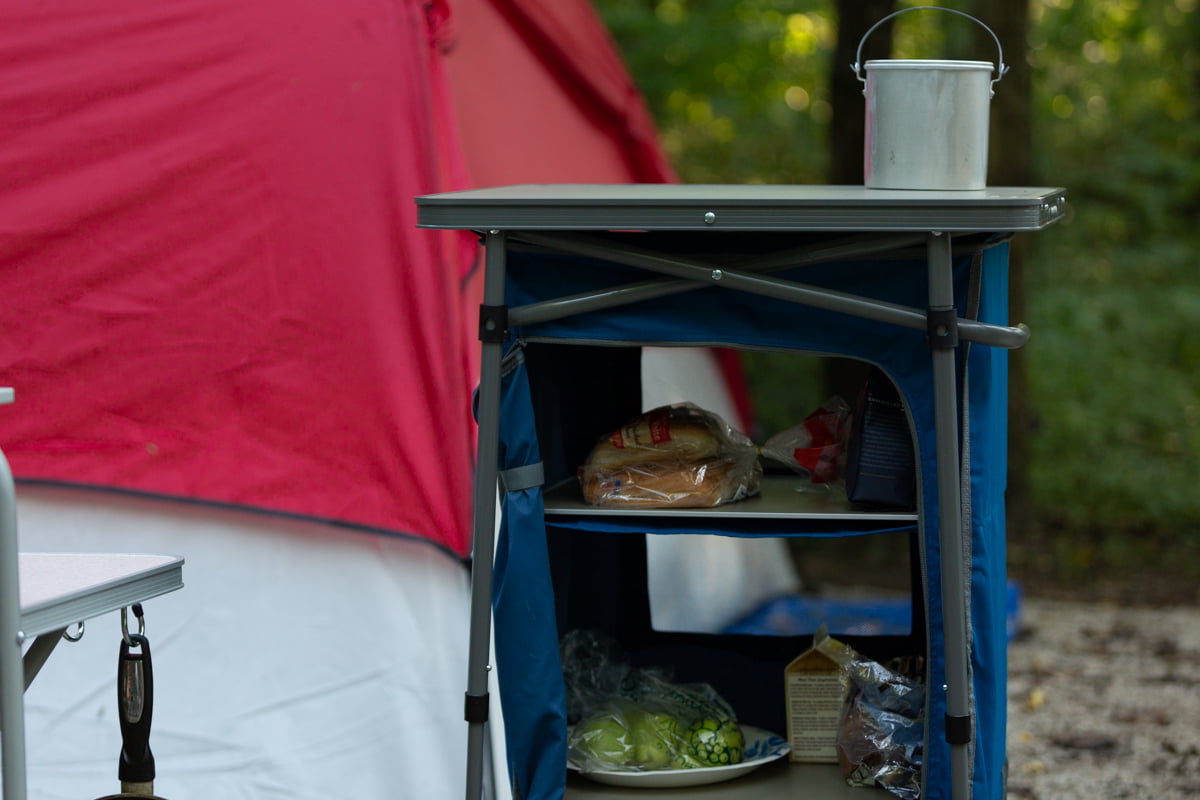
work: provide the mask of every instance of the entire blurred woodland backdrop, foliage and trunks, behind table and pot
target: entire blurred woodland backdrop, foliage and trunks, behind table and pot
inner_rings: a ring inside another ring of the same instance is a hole
[[[595,5],[683,180],[860,184],[853,52],[871,24],[923,4]],[[941,5],[992,28],[1012,66],[991,109],[989,184],[1064,186],[1069,198],[1066,221],[1014,242],[1013,320],[1033,330],[1012,359],[1014,572],[1072,582],[1146,571],[1192,585],[1200,0]],[[994,61],[994,50],[970,20],[913,12],[875,31],[864,58]],[[768,431],[806,414],[829,385],[820,367],[796,360],[751,355],[748,369]]]

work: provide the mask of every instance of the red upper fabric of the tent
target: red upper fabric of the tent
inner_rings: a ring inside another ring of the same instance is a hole
[[[413,197],[672,178],[582,0],[14,0],[0,78],[14,474],[458,555],[473,247]]]

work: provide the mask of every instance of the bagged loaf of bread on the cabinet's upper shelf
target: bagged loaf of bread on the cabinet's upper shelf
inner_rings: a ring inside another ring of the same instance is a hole
[[[757,447],[719,415],[661,405],[602,437],[578,469],[584,501],[614,507],[710,507],[758,493]]]

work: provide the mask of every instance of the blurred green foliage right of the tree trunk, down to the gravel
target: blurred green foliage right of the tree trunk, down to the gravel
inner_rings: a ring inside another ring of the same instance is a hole
[[[1136,531],[1141,549],[1110,536],[1075,554],[1128,565],[1200,527],[1200,11],[1034,12],[1036,160],[1070,216],[1038,234],[1027,277],[1031,489],[1064,539]]]

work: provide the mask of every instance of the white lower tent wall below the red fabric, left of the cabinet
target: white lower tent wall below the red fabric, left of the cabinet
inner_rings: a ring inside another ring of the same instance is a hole
[[[92,491],[23,486],[17,505],[24,552],[186,558],[184,589],[144,603],[157,794],[463,795],[468,578],[444,552]],[[89,621],[26,692],[32,800],[119,790],[120,636],[119,614]]]

